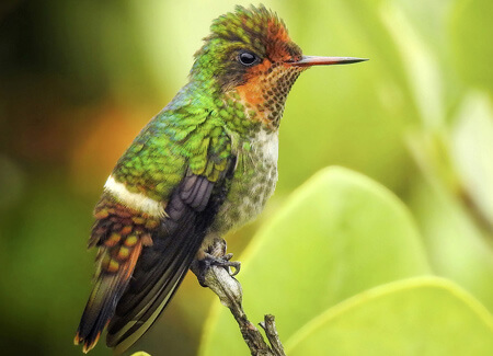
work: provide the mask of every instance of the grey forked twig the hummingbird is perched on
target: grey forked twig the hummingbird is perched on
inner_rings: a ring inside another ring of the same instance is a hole
[[[231,276],[228,267],[211,265],[205,271],[198,271],[197,266],[194,266],[192,272],[202,279],[200,284],[210,288],[219,297],[221,303],[229,308],[252,356],[286,356],[277,334],[274,315],[265,315],[264,322],[260,323],[265,331],[270,346],[259,329],[246,318],[241,305],[243,297],[241,285]]]

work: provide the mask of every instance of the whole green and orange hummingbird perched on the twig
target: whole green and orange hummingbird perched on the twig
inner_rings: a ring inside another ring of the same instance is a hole
[[[264,5],[213,21],[188,83],[117,161],[94,208],[94,286],[76,344],[89,352],[107,329],[117,353],[164,310],[213,241],[254,219],[277,182],[278,128],[287,94],[313,66],[366,59],[303,56]]]

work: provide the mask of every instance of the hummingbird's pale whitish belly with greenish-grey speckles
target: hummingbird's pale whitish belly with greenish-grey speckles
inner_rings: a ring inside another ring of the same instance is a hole
[[[255,151],[238,156],[229,193],[211,232],[221,236],[254,219],[274,193],[276,182],[277,135],[267,142],[257,142]]]

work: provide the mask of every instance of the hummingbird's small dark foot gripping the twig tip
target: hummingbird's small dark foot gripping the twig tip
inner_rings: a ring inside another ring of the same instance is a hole
[[[230,261],[232,253],[226,253],[225,239],[215,237],[211,242],[206,244],[205,249],[200,249],[190,269],[197,276],[200,286],[207,287],[205,275],[211,266],[223,267],[231,276],[236,276],[240,272],[241,263]],[[231,273],[230,267],[233,267],[233,273]]]

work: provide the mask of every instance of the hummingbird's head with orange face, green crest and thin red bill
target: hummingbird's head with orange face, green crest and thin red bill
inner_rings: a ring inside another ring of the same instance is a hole
[[[345,57],[308,57],[288,36],[284,22],[272,11],[237,7],[219,16],[195,54],[192,79],[234,102],[250,120],[278,127],[289,90],[311,66],[357,62]]]

